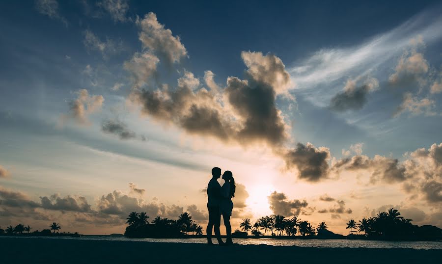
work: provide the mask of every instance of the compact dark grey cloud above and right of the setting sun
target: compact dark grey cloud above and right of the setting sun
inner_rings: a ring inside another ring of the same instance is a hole
[[[301,180],[318,182],[328,176],[328,160],[331,158],[328,148],[298,143],[296,149],[288,150],[284,158],[288,169],[297,168],[298,178]]]

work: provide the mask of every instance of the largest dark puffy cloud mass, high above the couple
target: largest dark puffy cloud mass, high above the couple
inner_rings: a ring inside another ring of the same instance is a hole
[[[248,67],[246,79],[229,77],[224,89],[213,89],[211,81],[209,91],[186,71],[175,89],[135,89],[131,98],[143,113],[191,134],[242,145],[280,146],[288,135],[275,100],[278,94],[289,97],[290,76],[275,55],[243,52],[242,58]]]

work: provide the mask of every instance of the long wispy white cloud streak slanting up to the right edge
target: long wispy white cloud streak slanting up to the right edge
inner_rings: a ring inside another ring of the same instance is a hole
[[[434,17],[434,20],[429,18]],[[420,13],[402,25],[348,48],[324,48],[299,61],[288,71],[299,88],[314,87],[350,75],[368,73],[403,53],[421,36],[427,45],[442,38],[442,18],[434,11]],[[414,43],[415,44],[415,43]]]

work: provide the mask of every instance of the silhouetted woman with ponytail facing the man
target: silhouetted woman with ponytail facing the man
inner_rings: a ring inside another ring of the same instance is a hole
[[[232,197],[235,197],[235,179],[233,179],[232,172],[228,170],[224,172],[222,179],[225,182],[224,185],[221,186],[220,212],[222,214],[222,219],[224,220],[225,233],[227,236],[225,243],[231,245],[233,244],[233,241],[230,216],[232,215],[233,209]]]

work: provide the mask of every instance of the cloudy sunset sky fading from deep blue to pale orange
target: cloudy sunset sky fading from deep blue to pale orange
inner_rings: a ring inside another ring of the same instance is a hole
[[[442,227],[438,1],[0,3],[0,227],[241,219]],[[223,181],[220,180],[220,184]],[[223,227],[221,226],[221,232]]]

